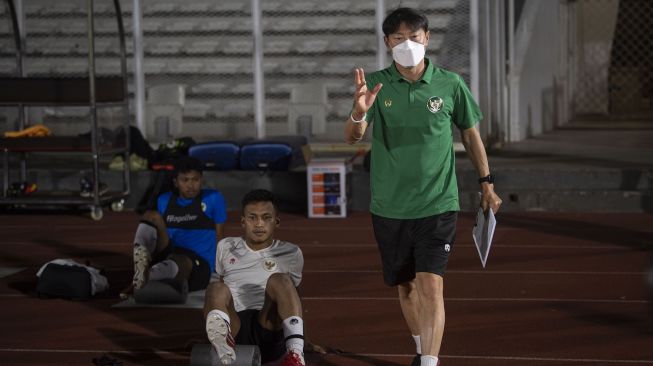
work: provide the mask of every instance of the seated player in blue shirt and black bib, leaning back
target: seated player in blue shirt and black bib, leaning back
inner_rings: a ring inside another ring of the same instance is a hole
[[[202,290],[215,270],[216,245],[227,218],[222,194],[202,189],[202,164],[181,157],[174,191],[161,194],[156,210],[143,214],[134,237],[134,278],[126,298],[148,280],[176,279],[189,291]]]

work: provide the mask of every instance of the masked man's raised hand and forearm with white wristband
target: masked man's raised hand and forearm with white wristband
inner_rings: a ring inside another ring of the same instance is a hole
[[[365,116],[367,111],[370,110],[376,95],[381,90],[382,84],[376,84],[373,90],[367,89],[365,81],[365,72],[361,68],[354,71],[354,107],[352,109],[347,122],[345,123],[345,142],[348,144],[355,144],[360,141],[365,135],[367,129],[367,121]]]

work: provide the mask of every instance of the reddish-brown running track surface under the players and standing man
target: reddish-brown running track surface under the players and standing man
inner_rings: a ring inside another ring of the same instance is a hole
[[[227,235],[239,235],[230,213]],[[445,276],[445,366],[653,365],[646,275],[653,215],[500,213],[481,268],[463,213]],[[0,365],[187,365],[204,340],[197,309],[112,308],[130,278],[138,217],[0,216]],[[309,365],[408,365],[414,345],[396,292],[382,283],[367,213],[347,219],[282,216],[279,238],[306,260],[307,336],[328,347]],[[54,258],[105,268],[111,289],[86,302],[35,297],[35,273]]]

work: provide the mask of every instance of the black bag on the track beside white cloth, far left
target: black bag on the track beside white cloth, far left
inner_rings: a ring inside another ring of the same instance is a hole
[[[49,263],[39,276],[36,293],[42,298],[90,299],[91,274],[81,266]]]

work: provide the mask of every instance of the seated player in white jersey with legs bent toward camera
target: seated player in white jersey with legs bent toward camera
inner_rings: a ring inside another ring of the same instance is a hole
[[[262,362],[304,365],[304,325],[297,286],[304,257],[274,238],[279,216],[272,193],[254,190],[242,200],[244,236],[218,243],[216,273],[206,289],[206,333],[220,361],[235,362],[236,344],[257,345]],[[285,356],[284,356],[285,354]]]

